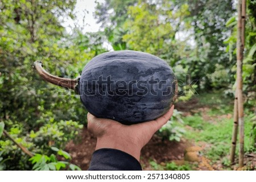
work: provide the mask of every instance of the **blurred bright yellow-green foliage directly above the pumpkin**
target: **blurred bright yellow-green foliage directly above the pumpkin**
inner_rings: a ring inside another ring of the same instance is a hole
[[[170,10],[172,3],[164,3],[157,7],[149,3],[141,3],[137,6],[129,7],[130,19],[127,19],[124,28],[127,34],[123,36],[123,41],[127,42],[130,49],[152,53],[168,61],[174,62],[175,52],[171,52],[172,47],[177,49],[180,42],[173,41],[179,24],[184,22],[184,17],[189,14],[188,5],[184,4],[179,10]],[[161,16],[161,18],[159,18]],[[175,26],[171,21],[180,23]],[[185,23],[185,22],[184,22]],[[185,24],[189,26],[189,24]],[[183,46],[183,45],[182,45]]]

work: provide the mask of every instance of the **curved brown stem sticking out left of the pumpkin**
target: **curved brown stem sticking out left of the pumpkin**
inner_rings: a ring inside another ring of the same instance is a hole
[[[41,61],[35,61],[34,68],[44,80],[50,82],[51,84],[75,90],[77,93],[79,92],[80,77],[71,79],[71,78],[61,78],[61,77],[51,75],[43,68],[43,63]]]

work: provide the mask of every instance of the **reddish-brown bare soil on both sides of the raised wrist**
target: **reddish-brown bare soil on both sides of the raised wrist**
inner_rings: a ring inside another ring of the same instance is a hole
[[[171,162],[172,160],[183,159],[187,142],[170,142],[162,140],[154,135],[150,142],[142,148],[141,165],[144,170],[152,170],[150,161],[154,160],[158,164]],[[82,170],[89,168],[90,160],[94,148],[96,146],[96,138],[89,133],[85,127],[76,142],[71,141],[67,144],[65,150],[72,156],[71,163],[76,164]]]

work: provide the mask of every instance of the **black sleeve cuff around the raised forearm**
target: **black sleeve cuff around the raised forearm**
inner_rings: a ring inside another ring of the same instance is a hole
[[[130,154],[113,148],[93,152],[89,171],[141,171],[141,164]]]

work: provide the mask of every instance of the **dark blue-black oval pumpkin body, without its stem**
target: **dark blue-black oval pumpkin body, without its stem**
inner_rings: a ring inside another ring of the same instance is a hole
[[[126,125],[165,114],[176,98],[176,89],[170,66],[138,51],[94,57],[84,67],[79,84],[80,99],[91,114]]]

